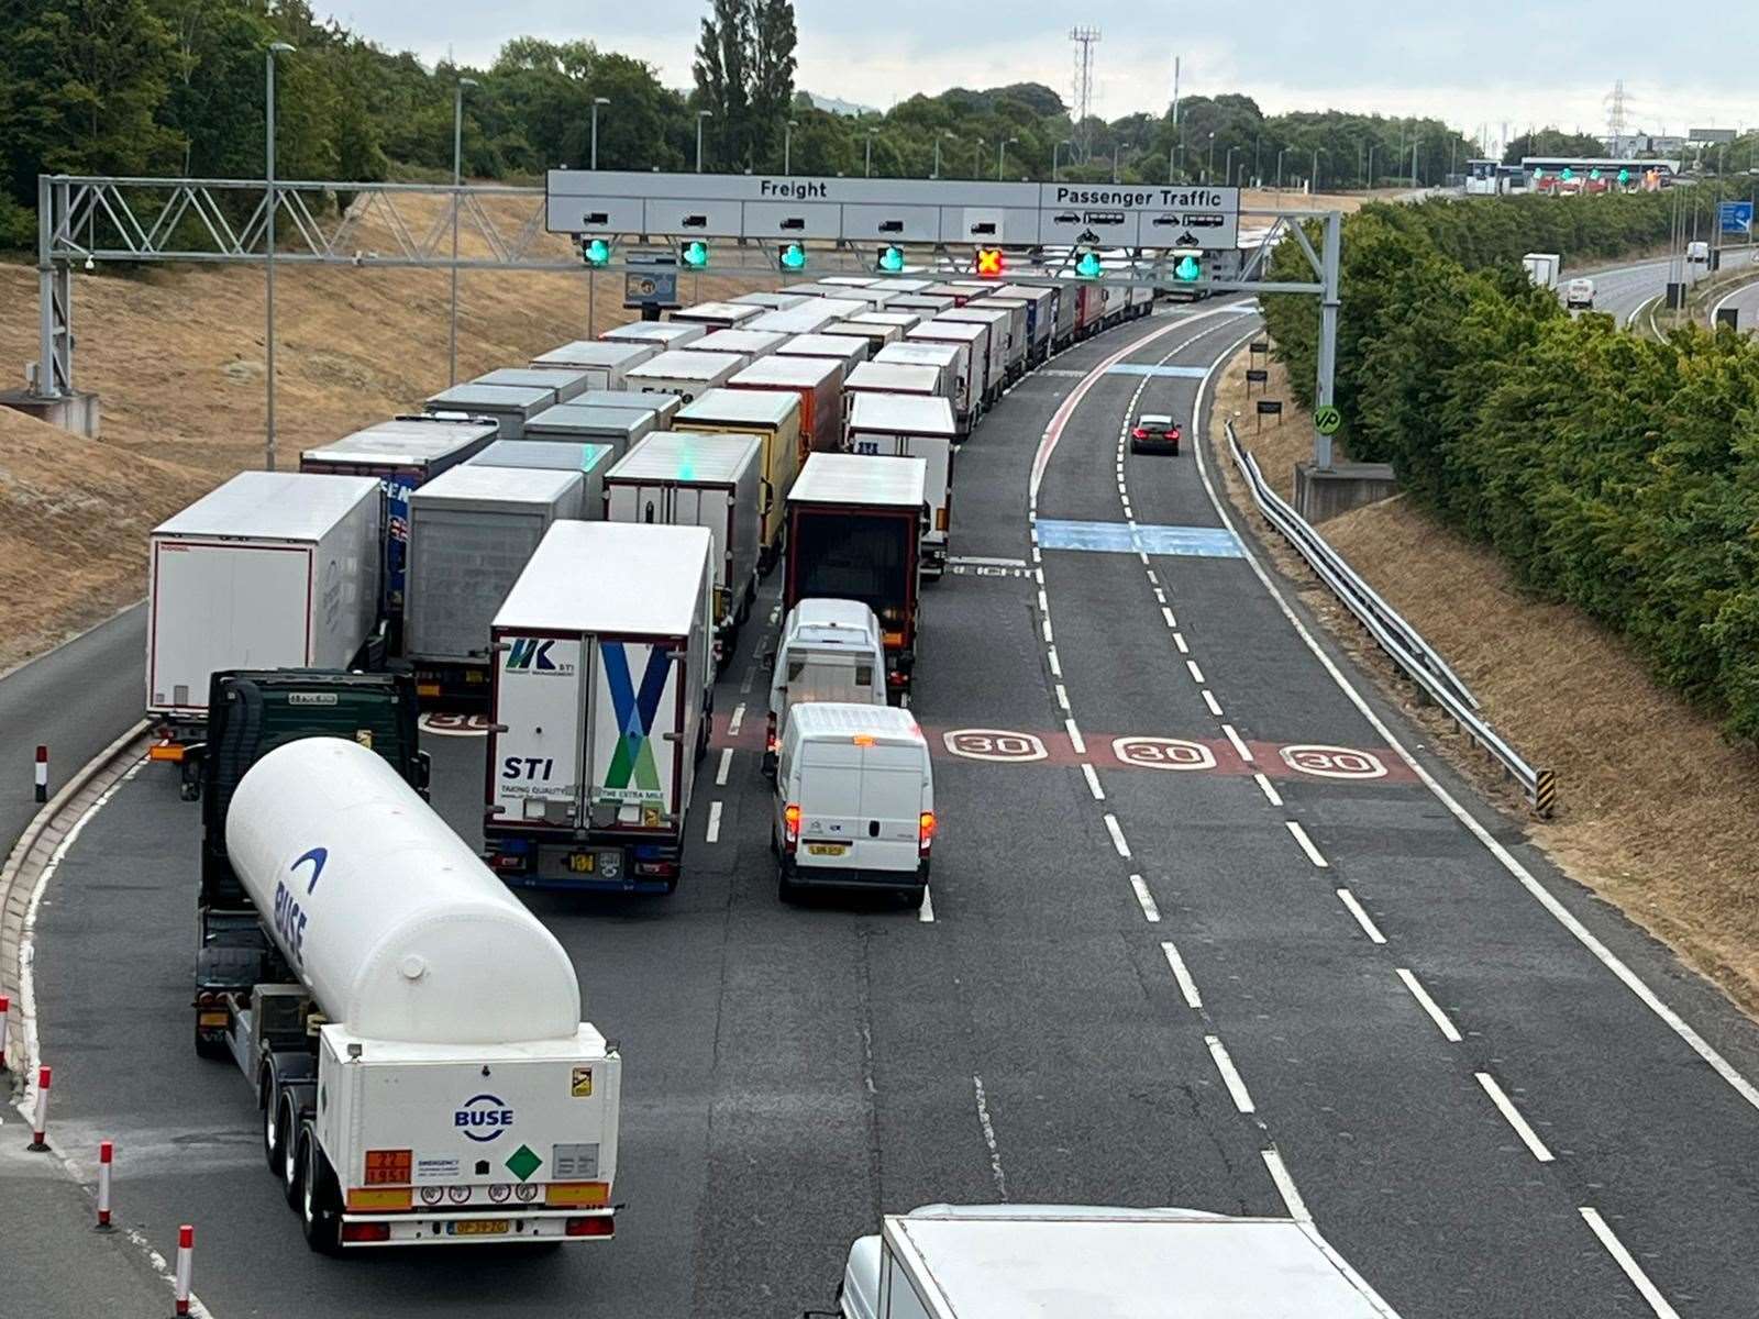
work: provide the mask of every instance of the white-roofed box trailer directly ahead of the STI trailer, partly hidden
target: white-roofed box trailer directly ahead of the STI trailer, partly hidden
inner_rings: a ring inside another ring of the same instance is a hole
[[[763,440],[654,431],[605,473],[605,521],[700,526],[714,538],[714,645],[725,665],[758,594]]]

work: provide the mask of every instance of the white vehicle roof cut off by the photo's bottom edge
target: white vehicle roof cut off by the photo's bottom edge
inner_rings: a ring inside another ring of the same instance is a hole
[[[925,1205],[850,1250],[841,1319],[1398,1319],[1310,1222]]]

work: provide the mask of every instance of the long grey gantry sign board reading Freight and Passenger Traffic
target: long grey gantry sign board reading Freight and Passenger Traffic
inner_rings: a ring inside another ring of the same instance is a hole
[[[552,169],[552,234],[1231,250],[1240,190]]]

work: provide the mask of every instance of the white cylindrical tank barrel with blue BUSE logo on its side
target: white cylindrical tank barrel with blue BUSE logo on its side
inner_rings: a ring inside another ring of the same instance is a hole
[[[225,842],[288,966],[354,1034],[498,1045],[579,1029],[563,946],[366,747],[308,737],[266,754]]]

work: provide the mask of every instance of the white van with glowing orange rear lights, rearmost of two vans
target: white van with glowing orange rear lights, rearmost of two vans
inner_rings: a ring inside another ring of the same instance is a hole
[[[848,702],[790,711],[770,821],[783,902],[802,888],[887,888],[920,907],[934,825],[929,742],[909,711]]]

